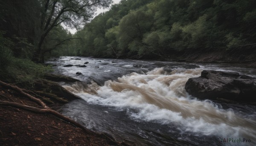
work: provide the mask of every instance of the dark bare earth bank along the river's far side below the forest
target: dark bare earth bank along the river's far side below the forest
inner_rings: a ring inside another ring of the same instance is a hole
[[[99,56],[96,56],[99,57]],[[100,58],[100,57],[99,57]],[[116,57],[110,57],[116,58]],[[148,57],[135,56],[119,56],[118,59],[135,59],[135,60],[149,60]],[[206,49],[192,49],[186,51],[174,51],[172,53],[166,52],[162,56],[155,56],[150,60],[161,61],[175,61],[187,63],[230,63],[230,64],[244,64],[256,68],[256,48],[243,47],[231,50],[219,49],[209,50]]]

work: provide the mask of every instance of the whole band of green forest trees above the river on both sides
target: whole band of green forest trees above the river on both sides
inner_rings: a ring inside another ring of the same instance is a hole
[[[1,63],[9,55],[41,63],[58,56],[168,59],[256,43],[255,0],[121,0],[94,18],[96,6],[110,0],[87,11],[71,2],[1,1]]]

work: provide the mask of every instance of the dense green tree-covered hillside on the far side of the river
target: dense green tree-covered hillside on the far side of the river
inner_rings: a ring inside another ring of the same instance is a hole
[[[255,0],[121,0],[77,32],[76,52],[168,57],[256,43]]]

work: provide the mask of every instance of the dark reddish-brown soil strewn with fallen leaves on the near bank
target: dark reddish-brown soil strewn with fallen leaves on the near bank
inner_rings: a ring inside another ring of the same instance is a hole
[[[40,107],[0,86],[0,100]],[[104,134],[88,134],[53,115],[0,106],[0,146],[115,146]]]

